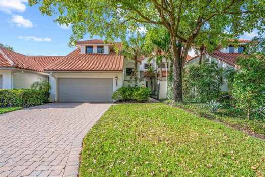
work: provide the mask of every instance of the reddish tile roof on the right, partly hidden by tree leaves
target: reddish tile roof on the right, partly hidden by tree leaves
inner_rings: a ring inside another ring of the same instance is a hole
[[[235,63],[239,59],[240,56],[242,56],[241,53],[223,53],[219,50],[214,50],[213,53],[207,53],[206,54],[215,57],[218,60],[221,60],[231,66],[235,66]]]

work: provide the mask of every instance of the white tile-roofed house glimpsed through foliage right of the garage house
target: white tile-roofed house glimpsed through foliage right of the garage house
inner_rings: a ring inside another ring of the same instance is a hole
[[[221,47],[217,46],[217,48],[212,53],[204,52],[202,55],[202,62],[206,59],[210,61],[214,61],[218,64],[219,67],[235,67],[237,59],[241,56],[242,52],[244,51],[244,45],[250,42],[250,40],[239,40],[239,45],[234,46],[230,45],[229,47]],[[164,99],[167,97],[167,83],[165,82],[167,77],[169,76],[169,65],[166,67],[164,59],[162,61],[162,80],[159,81],[160,89],[159,89],[159,98]],[[140,74],[144,75],[144,81],[146,85],[151,88],[150,86],[150,78],[149,75],[144,74],[148,66],[154,67],[158,72],[159,68],[155,64],[155,59],[153,59],[150,63],[148,62],[148,57],[142,60],[142,65],[140,65]],[[188,64],[199,64],[199,55],[197,55],[197,50],[194,47],[191,47],[189,50],[187,59],[186,59],[186,66]],[[167,71],[166,71],[167,70]],[[228,81],[224,79],[224,84],[220,87],[221,91],[228,91]]]

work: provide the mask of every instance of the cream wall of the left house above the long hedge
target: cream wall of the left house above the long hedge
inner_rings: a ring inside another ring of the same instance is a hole
[[[13,88],[14,89],[29,89],[31,88],[31,84],[36,82],[36,81],[47,81],[48,80],[48,75],[42,75],[42,74],[37,74],[34,72],[26,72],[23,71],[16,71],[13,72]]]

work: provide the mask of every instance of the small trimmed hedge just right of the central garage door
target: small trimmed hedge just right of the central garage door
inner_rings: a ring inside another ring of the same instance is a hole
[[[147,87],[121,87],[113,92],[112,99],[122,100],[136,100],[137,102],[147,102],[151,90]]]

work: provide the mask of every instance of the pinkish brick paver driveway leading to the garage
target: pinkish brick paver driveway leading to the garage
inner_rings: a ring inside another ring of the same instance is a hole
[[[50,103],[0,115],[0,176],[77,176],[82,139],[110,103]]]

